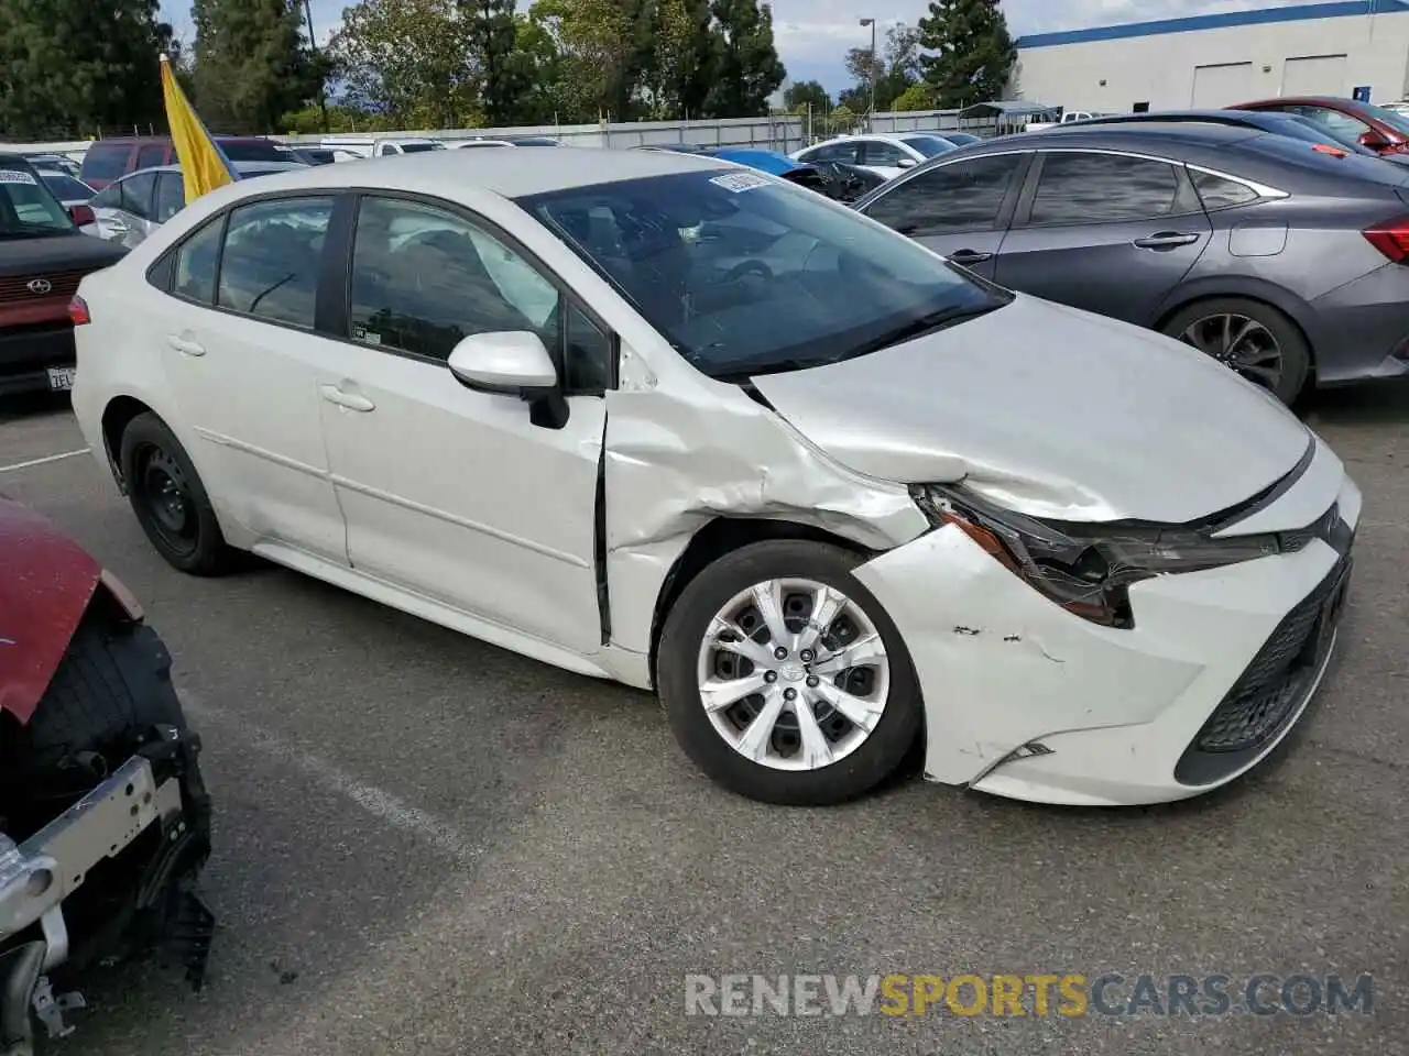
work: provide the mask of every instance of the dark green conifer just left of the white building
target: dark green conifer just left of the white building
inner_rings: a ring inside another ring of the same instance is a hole
[[[920,20],[924,80],[940,107],[1002,99],[1017,59],[999,0],[933,0]]]

